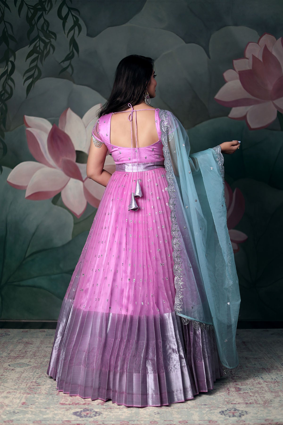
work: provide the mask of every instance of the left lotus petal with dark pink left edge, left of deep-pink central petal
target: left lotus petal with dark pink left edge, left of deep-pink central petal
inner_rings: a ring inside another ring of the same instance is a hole
[[[28,149],[36,161],[47,165],[48,167],[56,167],[47,148],[47,133],[37,128],[26,128],[25,134],[28,142]]]

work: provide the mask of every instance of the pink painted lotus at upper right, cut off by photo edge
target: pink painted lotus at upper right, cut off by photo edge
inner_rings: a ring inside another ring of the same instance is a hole
[[[226,84],[216,102],[232,107],[229,117],[246,119],[250,130],[267,127],[283,113],[283,39],[263,34],[249,42],[244,58],[233,60],[234,69],[223,76]]]

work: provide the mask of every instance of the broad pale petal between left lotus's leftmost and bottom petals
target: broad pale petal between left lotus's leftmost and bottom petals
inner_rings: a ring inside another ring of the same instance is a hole
[[[32,176],[25,192],[25,198],[33,201],[52,198],[61,192],[69,180],[70,177],[61,170],[50,167],[41,168]]]

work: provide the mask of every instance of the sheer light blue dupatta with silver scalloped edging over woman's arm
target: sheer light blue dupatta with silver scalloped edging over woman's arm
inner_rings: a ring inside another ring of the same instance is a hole
[[[179,120],[160,110],[160,128],[171,209],[175,312],[184,323],[213,326],[225,373],[236,373],[238,277],[227,229],[221,147],[190,155]]]

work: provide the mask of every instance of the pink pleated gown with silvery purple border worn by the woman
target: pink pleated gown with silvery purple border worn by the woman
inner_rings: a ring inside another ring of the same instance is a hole
[[[183,325],[174,311],[158,111],[159,139],[147,147],[112,145],[111,113],[94,129],[116,171],[64,297],[47,372],[57,389],[71,396],[126,406],[169,405],[212,389],[223,374],[211,327]],[[138,210],[128,210],[137,179],[143,195],[135,198]]]

